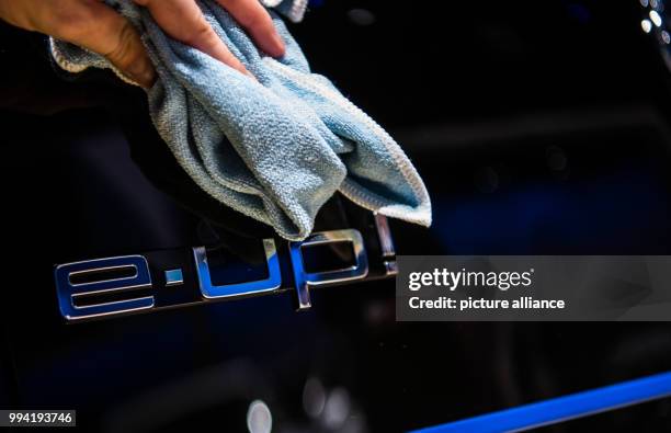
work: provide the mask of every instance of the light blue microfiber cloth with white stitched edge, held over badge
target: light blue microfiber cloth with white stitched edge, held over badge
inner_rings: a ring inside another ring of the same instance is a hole
[[[303,0],[266,5],[299,20]],[[148,90],[152,122],[178,162],[209,195],[305,239],[337,191],[367,209],[429,226],[431,203],[417,170],[394,139],[309,65],[274,10],[286,45],[261,53],[218,3],[198,5],[217,35],[257,80],[167,36],[130,0],[107,0],[143,36],[158,79]],[[114,69],[103,57],[50,42],[64,69]],[[120,77],[123,78],[118,71]]]

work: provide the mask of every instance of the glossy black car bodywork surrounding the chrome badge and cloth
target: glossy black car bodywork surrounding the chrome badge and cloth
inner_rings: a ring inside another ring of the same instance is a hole
[[[428,185],[433,227],[393,221],[399,254],[669,254],[671,72],[647,13],[321,0],[292,31]],[[396,432],[671,369],[667,323],[397,323],[391,281],[315,290],[300,315],[286,294],[66,326],[54,264],[246,223],[174,191],[189,180],[141,91],[65,77],[44,38],[0,32],[1,407],[77,409],[89,431],[244,432],[262,400],[273,432]],[[671,401],[544,429],[602,430],[669,431]]]

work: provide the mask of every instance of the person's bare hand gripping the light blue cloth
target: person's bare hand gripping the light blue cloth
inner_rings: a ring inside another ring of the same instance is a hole
[[[195,0],[134,0],[149,10],[171,37],[224,64],[249,72],[209,26]],[[273,57],[284,55],[284,43],[268,11],[258,0],[217,0]],[[100,0],[0,0],[0,19],[45,33],[106,57],[128,78],[148,88],[156,71],[133,25]]]

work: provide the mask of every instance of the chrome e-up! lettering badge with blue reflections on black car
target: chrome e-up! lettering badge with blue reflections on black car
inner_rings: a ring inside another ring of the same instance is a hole
[[[295,290],[297,309],[306,310],[311,307],[310,287],[394,276],[396,253],[386,218],[376,215],[362,229],[366,237],[350,228],[315,232],[300,242],[250,239],[260,241],[263,251],[261,262],[252,264],[236,264],[228,255],[221,263],[212,262],[206,247],[59,264],[55,267],[58,306],[61,316],[75,322]],[[373,262],[366,242],[376,252]],[[346,263],[339,259],[328,269],[310,269],[306,263],[319,262],[321,255],[315,250],[325,247],[348,250],[341,254],[348,255]],[[221,276],[232,280],[224,283]]]

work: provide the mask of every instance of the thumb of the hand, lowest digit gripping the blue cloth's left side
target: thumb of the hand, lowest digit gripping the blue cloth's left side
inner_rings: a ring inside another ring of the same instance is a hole
[[[104,56],[130,80],[151,87],[156,71],[130,22],[99,1],[81,1],[78,8],[81,13],[70,14],[71,22],[54,36]]]

